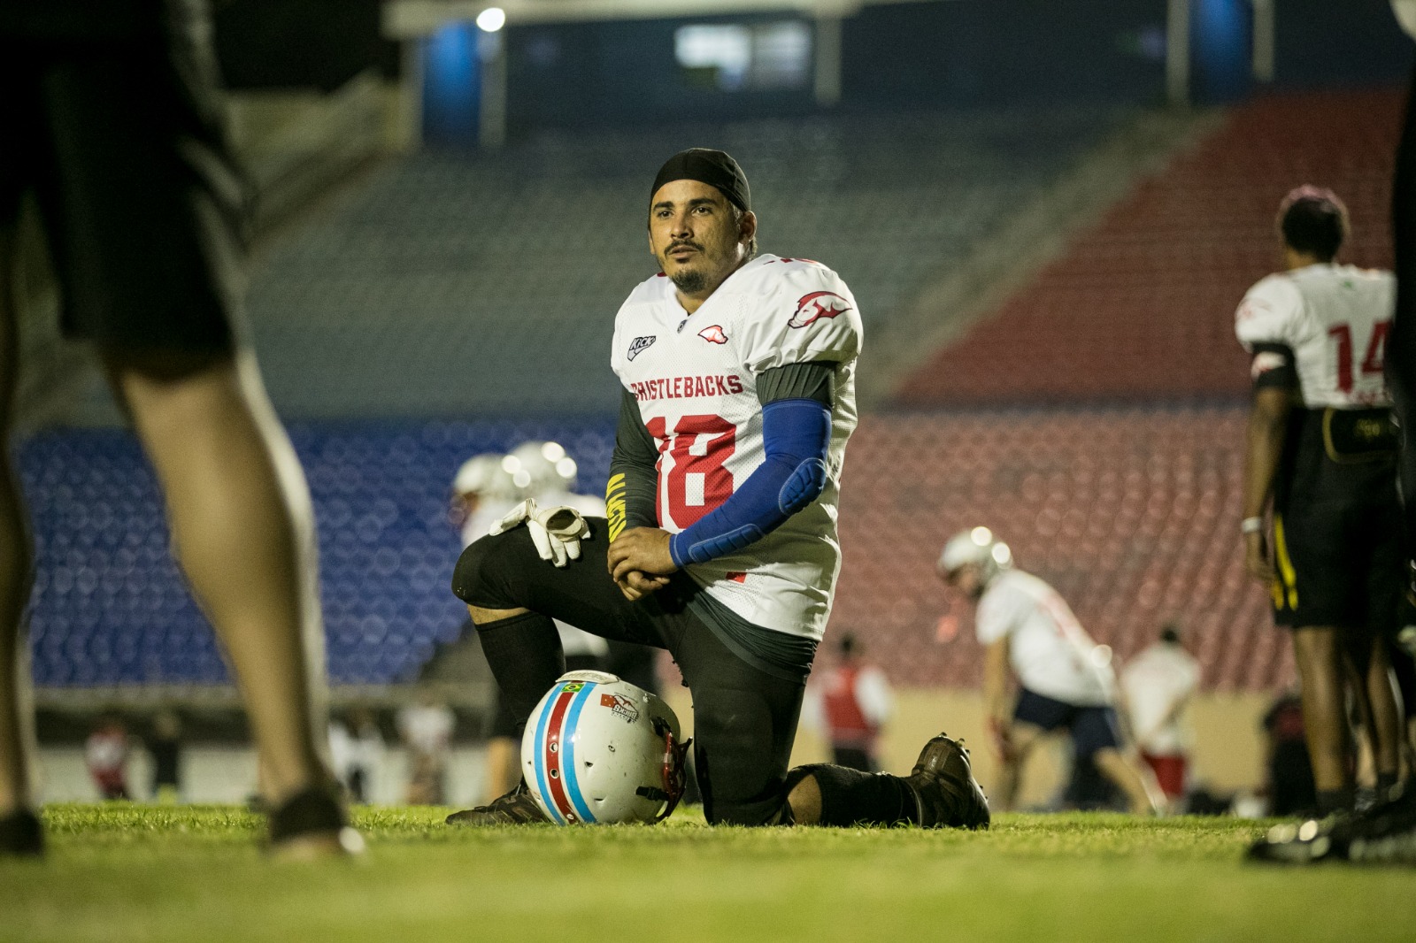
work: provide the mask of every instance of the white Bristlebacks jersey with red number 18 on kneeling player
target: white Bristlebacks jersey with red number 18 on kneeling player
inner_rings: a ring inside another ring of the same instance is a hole
[[[640,283],[615,319],[610,365],[639,401],[658,445],[658,524],[691,527],[728,500],[765,459],[758,375],[834,361],[835,404],[826,488],[742,551],[685,569],[748,622],[820,639],[841,569],[835,537],[845,440],[855,429],[861,314],[831,269],[762,255],[687,314],[674,283]]]

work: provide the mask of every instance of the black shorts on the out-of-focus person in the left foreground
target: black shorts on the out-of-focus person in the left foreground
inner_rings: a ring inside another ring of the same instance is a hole
[[[208,35],[180,16],[105,40],[0,33],[0,228],[33,193],[69,337],[235,345],[245,184]]]

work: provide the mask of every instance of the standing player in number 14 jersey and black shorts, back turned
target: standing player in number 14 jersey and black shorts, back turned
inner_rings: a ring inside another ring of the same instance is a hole
[[[1277,229],[1284,270],[1255,285],[1235,316],[1253,381],[1240,530],[1249,572],[1272,588],[1274,622],[1293,633],[1318,811],[1328,814],[1355,799],[1349,670],[1378,787],[1398,772],[1386,644],[1403,558],[1382,372],[1395,286],[1389,272],[1337,263],[1348,218],[1328,190],[1291,191]]]

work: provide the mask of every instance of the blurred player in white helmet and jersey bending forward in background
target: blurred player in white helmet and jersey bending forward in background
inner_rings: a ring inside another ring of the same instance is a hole
[[[984,709],[1001,760],[997,807],[1012,808],[1032,748],[1045,733],[1065,729],[1076,763],[1093,762],[1126,794],[1131,811],[1157,811],[1160,787],[1117,722],[1110,650],[1086,634],[1062,596],[1015,569],[1007,544],[986,527],[949,538],[939,575],[976,607]],[[1017,698],[1010,697],[1010,667]]]

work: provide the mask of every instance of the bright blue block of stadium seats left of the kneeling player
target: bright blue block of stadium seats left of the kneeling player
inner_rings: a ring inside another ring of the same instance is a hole
[[[603,491],[613,419],[295,426],[320,535],[330,678],[389,684],[418,675],[466,617],[449,590],[459,541],[452,476],[479,452],[556,439],[579,490]],[[212,633],[169,555],[152,473],[113,430],[35,436],[21,449],[37,573],[31,606],[41,687],[217,684]]]

